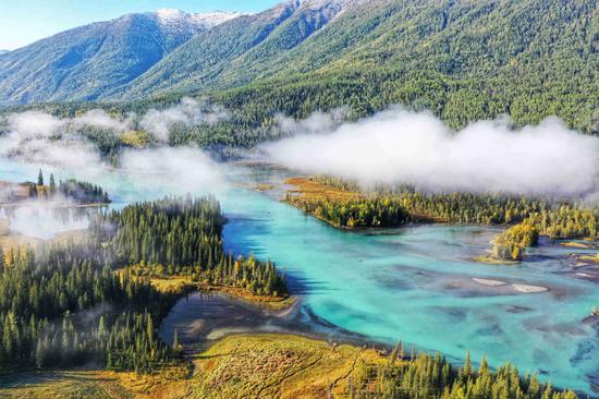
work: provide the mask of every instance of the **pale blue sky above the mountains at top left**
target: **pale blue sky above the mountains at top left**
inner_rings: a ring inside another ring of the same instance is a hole
[[[13,50],[56,33],[130,12],[257,12],[281,0],[0,0],[0,49]]]

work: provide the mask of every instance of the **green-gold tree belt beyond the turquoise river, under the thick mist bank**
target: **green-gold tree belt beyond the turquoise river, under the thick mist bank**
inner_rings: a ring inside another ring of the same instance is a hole
[[[345,191],[357,184],[334,177],[310,180]],[[337,227],[398,227],[414,221],[513,226],[498,235],[492,256],[521,261],[539,235],[551,239],[595,239],[599,208],[565,198],[533,198],[503,193],[426,193],[414,186],[374,186],[349,201],[286,194],[285,200]]]

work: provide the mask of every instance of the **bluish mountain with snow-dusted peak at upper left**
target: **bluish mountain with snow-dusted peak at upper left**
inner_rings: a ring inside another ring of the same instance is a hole
[[[0,105],[96,99],[139,76],[194,35],[237,15],[159,10],[36,41],[0,58]]]

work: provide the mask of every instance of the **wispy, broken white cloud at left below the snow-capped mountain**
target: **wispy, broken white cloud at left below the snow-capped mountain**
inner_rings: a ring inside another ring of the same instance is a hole
[[[85,128],[99,128],[103,134],[120,134],[136,128],[138,121],[142,129],[167,141],[176,123],[185,126],[215,124],[227,118],[222,108],[192,98],[183,98],[180,104],[163,110],[151,109],[143,117],[111,117],[101,109],[64,119],[39,111],[13,113],[5,121],[8,133],[0,136],[0,156],[83,172],[82,169],[88,171],[101,164],[95,145],[80,134]]]

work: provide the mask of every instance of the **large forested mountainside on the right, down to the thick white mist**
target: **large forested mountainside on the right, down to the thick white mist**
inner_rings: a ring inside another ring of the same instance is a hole
[[[195,36],[109,98],[223,89],[252,122],[402,104],[453,128],[558,116],[599,133],[599,1],[290,1]]]

